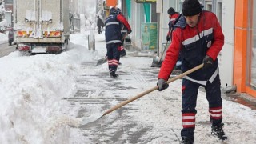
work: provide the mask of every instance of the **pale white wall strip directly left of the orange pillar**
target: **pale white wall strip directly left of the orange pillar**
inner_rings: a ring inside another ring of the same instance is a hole
[[[222,87],[232,86],[234,67],[234,0],[222,1],[222,31],[225,44],[219,59],[219,73]]]

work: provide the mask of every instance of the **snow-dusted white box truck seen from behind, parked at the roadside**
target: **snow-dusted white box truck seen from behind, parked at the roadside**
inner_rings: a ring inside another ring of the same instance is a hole
[[[70,40],[69,0],[15,0],[17,49],[30,54],[58,54]]]

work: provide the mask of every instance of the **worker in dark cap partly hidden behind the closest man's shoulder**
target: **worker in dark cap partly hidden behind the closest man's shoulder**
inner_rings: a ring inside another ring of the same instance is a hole
[[[179,13],[175,12],[174,8],[170,7],[167,10],[167,14],[169,15],[170,21],[168,23],[169,30],[168,30],[168,33],[167,33],[167,36],[166,36],[166,41],[169,42],[170,38],[171,38],[171,30],[173,28],[173,25],[174,25],[174,22],[175,22],[176,18],[178,18],[178,16],[179,16]]]

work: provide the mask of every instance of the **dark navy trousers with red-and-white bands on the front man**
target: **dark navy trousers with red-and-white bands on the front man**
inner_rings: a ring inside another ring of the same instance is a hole
[[[190,80],[182,80],[182,137],[192,138],[194,140],[195,114],[197,113],[198,88],[202,86]],[[210,121],[213,125],[222,123],[222,98],[220,89],[219,75],[214,82],[207,82],[203,86],[206,90],[206,99],[209,103]],[[215,113],[215,114],[214,114]],[[218,115],[217,117],[215,115]]]

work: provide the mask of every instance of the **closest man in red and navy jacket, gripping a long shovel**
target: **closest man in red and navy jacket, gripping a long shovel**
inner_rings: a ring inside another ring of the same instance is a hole
[[[224,45],[224,35],[216,15],[202,10],[198,0],[185,0],[182,5],[183,16],[173,31],[172,42],[166,52],[158,74],[158,90],[169,85],[170,78],[179,53],[182,56],[182,72],[203,63],[203,68],[188,74],[182,79],[182,125],[183,143],[194,142],[196,102],[198,88],[206,90],[209,103],[211,133],[225,140],[222,129],[222,98],[218,74],[218,54]]]

